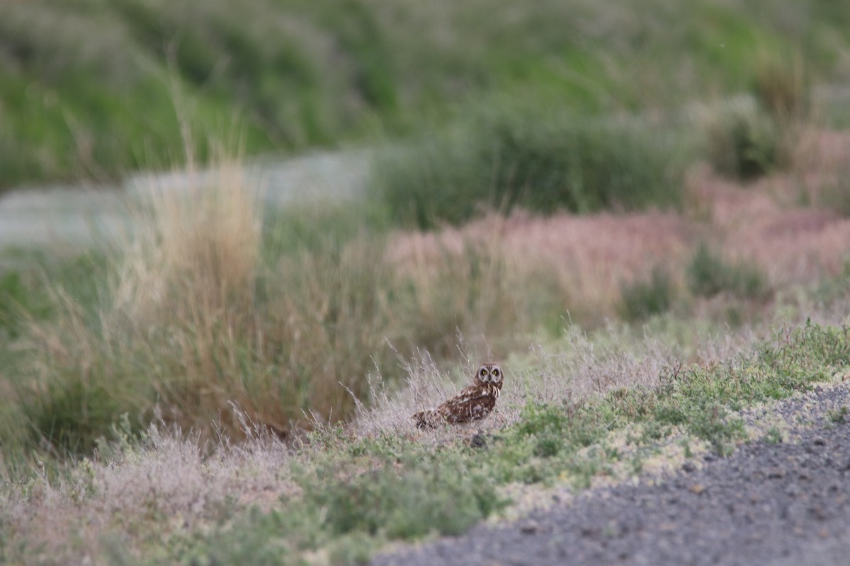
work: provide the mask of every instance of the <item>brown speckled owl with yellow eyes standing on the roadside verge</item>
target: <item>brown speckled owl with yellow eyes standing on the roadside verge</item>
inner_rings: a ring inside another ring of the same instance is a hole
[[[469,423],[486,417],[496,406],[503,374],[499,364],[487,362],[475,373],[473,384],[435,409],[411,415],[418,429],[433,429],[439,423]]]

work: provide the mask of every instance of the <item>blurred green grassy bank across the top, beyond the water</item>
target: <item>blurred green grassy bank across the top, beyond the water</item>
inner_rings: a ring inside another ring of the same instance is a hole
[[[492,93],[600,115],[755,89],[787,112],[840,74],[848,22],[825,0],[0,3],[0,188],[204,159],[213,135],[246,154],[373,143],[497,111]]]

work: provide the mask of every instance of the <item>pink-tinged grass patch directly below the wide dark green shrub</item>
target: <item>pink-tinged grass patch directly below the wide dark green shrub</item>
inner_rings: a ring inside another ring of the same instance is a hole
[[[399,235],[388,254],[401,272],[428,281],[439,277],[438,266],[447,257],[470,246],[484,249],[503,263],[499,277],[509,279],[508,293],[551,294],[559,315],[598,324],[614,316],[623,284],[649,277],[656,266],[682,263],[691,232],[673,213],[547,218],[515,213],[438,233]]]

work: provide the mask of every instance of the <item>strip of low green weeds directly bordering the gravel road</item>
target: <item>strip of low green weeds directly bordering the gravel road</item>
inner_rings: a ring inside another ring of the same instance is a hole
[[[170,552],[202,563],[289,564],[299,552],[325,548],[337,563],[364,563],[388,541],[465,532],[507,504],[498,490],[504,485],[587,489],[597,477],[624,479],[640,474],[643,462],[657,466],[660,447],[673,440],[688,459],[702,456],[690,452],[701,443],[728,457],[748,438],[737,412],[830,382],[847,367],[847,332],[807,325],[775,333],[734,361],[669,368],[652,389],[529,401],[517,423],[479,434],[479,447],[467,438],[431,446],[400,434],[348,440],[324,429],[311,439],[327,450],[292,466],[300,489],[269,512],[238,513]],[[846,416],[831,415],[834,422]],[[768,441],[775,435],[765,434]]]

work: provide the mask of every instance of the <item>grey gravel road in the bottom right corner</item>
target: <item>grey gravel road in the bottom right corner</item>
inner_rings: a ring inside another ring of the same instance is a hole
[[[850,385],[780,402],[789,440],[743,445],[665,479],[589,490],[510,524],[372,564],[850,564]],[[830,411],[831,417],[830,417]],[[745,418],[753,418],[749,413]],[[804,424],[801,424],[804,423]]]

